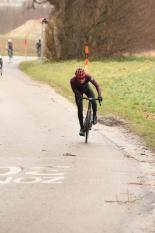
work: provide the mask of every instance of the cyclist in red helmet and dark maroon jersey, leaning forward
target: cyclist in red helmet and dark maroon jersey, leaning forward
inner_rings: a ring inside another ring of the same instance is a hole
[[[85,130],[83,125],[83,94],[85,94],[88,98],[95,98],[94,92],[91,89],[89,82],[92,83],[98,93],[99,101],[102,101],[101,89],[98,83],[90,76],[86,74],[84,69],[78,68],[75,71],[75,76],[71,78],[70,84],[71,88],[75,94],[75,101],[78,109],[78,118],[80,123],[80,136],[85,136]],[[93,109],[93,124],[97,123],[97,103],[95,100],[92,101],[92,109]]]

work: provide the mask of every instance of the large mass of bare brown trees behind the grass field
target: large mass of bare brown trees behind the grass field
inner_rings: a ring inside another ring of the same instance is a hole
[[[55,7],[47,27],[50,58],[82,57],[85,44],[94,57],[155,49],[153,0],[32,1]]]

